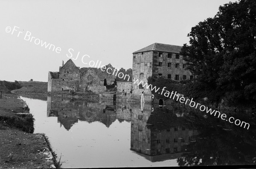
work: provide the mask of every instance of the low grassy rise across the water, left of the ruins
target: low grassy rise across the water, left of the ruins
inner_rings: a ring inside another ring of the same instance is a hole
[[[28,81],[23,82],[19,81],[22,88],[13,90],[14,93],[45,93],[47,92],[48,82],[37,82],[37,81]]]

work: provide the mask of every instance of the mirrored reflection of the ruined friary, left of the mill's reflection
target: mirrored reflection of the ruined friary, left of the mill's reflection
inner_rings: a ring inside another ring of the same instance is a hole
[[[119,122],[131,120],[129,106],[113,105],[109,103],[88,103],[82,100],[47,97],[47,117],[58,117],[58,123],[69,130],[79,120],[92,123],[99,121],[106,127],[118,119]],[[116,113],[116,109],[120,113]]]

